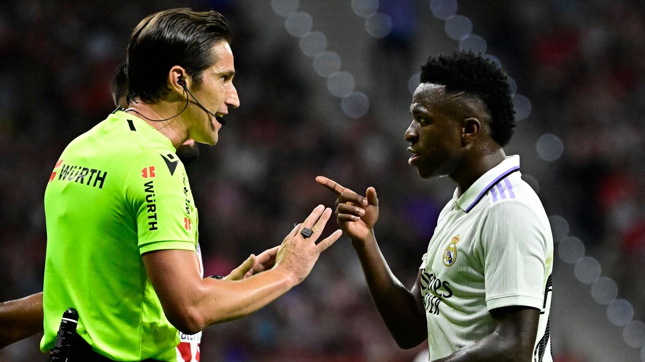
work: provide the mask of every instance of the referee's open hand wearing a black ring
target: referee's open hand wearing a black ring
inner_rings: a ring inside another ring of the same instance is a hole
[[[290,275],[296,284],[309,275],[321,252],[341,237],[342,231],[337,230],[316,244],[331,216],[332,209],[318,205],[302,224],[293,228],[280,245],[275,256],[275,268],[280,268]],[[305,227],[313,231],[309,238],[301,234]]]

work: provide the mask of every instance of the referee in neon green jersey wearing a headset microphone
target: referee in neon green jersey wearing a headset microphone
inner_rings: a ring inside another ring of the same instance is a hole
[[[319,205],[284,238],[272,269],[202,278],[197,207],[175,149],[188,138],[217,143],[224,116],[239,106],[229,43],[213,11],[165,10],[135,27],[130,108],[73,140],[45,191],[41,350],[54,346],[74,307],[81,359],[175,361],[177,330],[195,334],[264,307],[301,283],[341,235],[316,243],[332,214]]]

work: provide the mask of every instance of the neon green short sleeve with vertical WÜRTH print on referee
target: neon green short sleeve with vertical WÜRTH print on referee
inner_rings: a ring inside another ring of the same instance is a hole
[[[186,182],[184,166],[174,153],[146,149],[137,155],[126,176],[124,195],[137,221],[141,254],[163,249],[195,251],[194,221],[188,207],[192,196]]]

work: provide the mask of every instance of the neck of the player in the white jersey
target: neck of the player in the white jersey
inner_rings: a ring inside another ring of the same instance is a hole
[[[457,184],[459,196],[464,195],[468,187],[472,186],[484,173],[499,165],[506,153],[499,148],[492,153],[473,152],[462,160],[459,167],[450,175],[450,179]]]

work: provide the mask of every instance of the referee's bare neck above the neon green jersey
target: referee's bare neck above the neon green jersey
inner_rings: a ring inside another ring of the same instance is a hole
[[[131,103],[128,108],[128,113],[139,117],[150,126],[154,127],[162,135],[168,137],[172,145],[176,149],[188,138],[188,131],[186,131],[186,124],[183,115],[177,113],[181,112],[183,105],[178,106],[177,102],[161,101],[155,104],[145,104],[142,102]],[[156,121],[160,119],[167,119],[177,115],[169,120]]]

